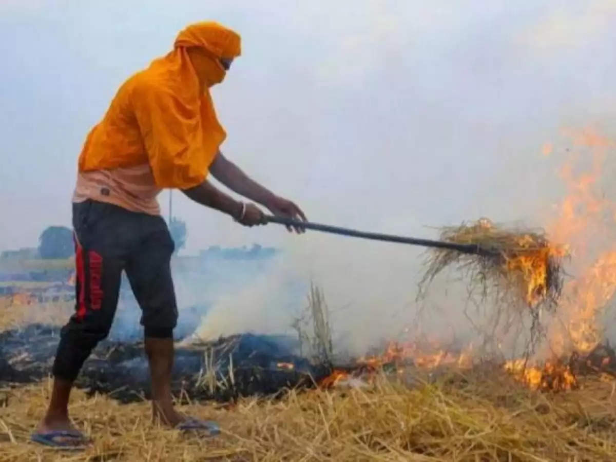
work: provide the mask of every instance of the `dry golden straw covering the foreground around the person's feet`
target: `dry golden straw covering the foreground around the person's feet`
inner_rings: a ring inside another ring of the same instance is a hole
[[[2,397],[3,396],[3,397]],[[94,438],[81,453],[28,442],[49,383],[0,392],[0,461],[609,461],[616,458],[614,384],[538,394],[495,373],[408,387],[291,392],[282,400],[212,403],[182,411],[214,418],[215,439],[159,428],[148,403],[119,405],[76,392],[71,413]]]

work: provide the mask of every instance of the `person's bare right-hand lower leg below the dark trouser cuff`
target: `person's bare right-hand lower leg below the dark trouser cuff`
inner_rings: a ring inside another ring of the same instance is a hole
[[[152,418],[174,427],[186,418],[174,410],[171,397],[173,339],[146,337],[145,353],[152,377]]]

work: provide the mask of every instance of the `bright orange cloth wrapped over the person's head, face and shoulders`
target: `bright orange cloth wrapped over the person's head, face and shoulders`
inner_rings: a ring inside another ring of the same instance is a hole
[[[191,60],[191,47],[204,51],[202,57]],[[79,170],[147,162],[161,188],[200,184],[226,137],[208,87],[224,79],[219,60],[240,53],[240,36],[216,22],[182,30],[172,52],[120,88],[103,121],[87,137]],[[200,82],[206,83],[205,89]]]

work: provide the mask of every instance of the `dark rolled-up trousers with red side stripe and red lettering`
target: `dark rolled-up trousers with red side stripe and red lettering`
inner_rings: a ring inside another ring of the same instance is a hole
[[[87,200],[73,204],[73,228],[75,314],[62,328],[54,363],[54,375],[67,379],[109,333],[123,271],[142,310],[145,336],[172,337],[177,323],[174,243],[162,217]]]

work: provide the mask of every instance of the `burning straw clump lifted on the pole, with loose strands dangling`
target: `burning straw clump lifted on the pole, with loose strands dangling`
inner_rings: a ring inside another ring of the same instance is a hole
[[[555,312],[562,290],[561,262],[567,249],[550,243],[541,230],[506,228],[480,219],[441,229],[440,240],[480,249],[479,254],[430,249],[424,261],[418,299],[424,299],[434,278],[450,270],[466,287],[469,306],[487,317],[488,325],[515,319],[533,351],[543,334],[541,313]],[[507,323],[507,322],[505,322]],[[492,329],[489,329],[492,331]]]

